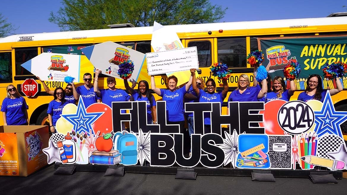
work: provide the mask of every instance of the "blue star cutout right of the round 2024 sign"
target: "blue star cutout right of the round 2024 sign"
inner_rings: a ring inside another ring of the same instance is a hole
[[[347,112],[335,111],[329,92],[324,98],[322,110],[314,112],[314,115],[316,123],[314,131],[318,136],[329,133],[343,138],[340,125],[347,120]]]

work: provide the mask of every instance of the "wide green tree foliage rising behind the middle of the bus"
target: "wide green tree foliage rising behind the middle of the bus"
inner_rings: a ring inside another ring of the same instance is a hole
[[[135,26],[214,23],[228,8],[209,0],[62,0],[49,21],[61,31],[108,28],[110,24]]]

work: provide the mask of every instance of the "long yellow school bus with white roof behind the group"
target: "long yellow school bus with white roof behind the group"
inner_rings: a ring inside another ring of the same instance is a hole
[[[248,74],[251,82],[253,81],[253,68],[247,64],[246,56],[251,51],[257,49],[263,50],[265,56],[263,65],[266,65],[271,73],[280,73],[280,66],[283,69],[283,64],[286,64],[289,60],[297,60],[302,65],[301,74],[306,74],[307,76],[314,71],[319,71],[322,75],[320,69],[323,62],[333,62],[334,56],[335,61],[346,62],[347,59],[345,54],[347,52],[347,48],[345,48],[347,43],[347,16],[172,25],[167,27],[177,33],[185,47],[197,47],[198,60],[200,62],[198,76],[205,81],[211,77],[211,64],[222,62],[229,66],[229,69],[232,71],[228,79],[229,94],[236,89],[240,74]],[[25,79],[36,79],[33,74],[20,65],[42,52],[82,55],[81,61],[86,62],[80,73],[80,80],[83,82],[83,74],[87,71],[93,73],[93,65],[83,56],[81,48],[112,41],[142,53],[153,52],[151,48],[152,31],[153,27],[125,27],[21,34],[0,38],[0,94],[5,96],[6,86],[10,83],[19,88]],[[318,39],[321,39],[319,44],[315,41]],[[330,39],[332,39],[331,44],[328,43]],[[294,51],[296,49],[288,49],[289,46],[287,44],[294,43],[296,45],[300,41],[304,42],[305,46],[303,48],[299,48],[298,51]],[[336,43],[336,41],[340,43]],[[332,48],[333,46],[334,48]],[[289,54],[291,55],[288,55],[288,50],[290,50]],[[295,56],[293,53],[295,53]],[[322,56],[322,53],[324,55],[330,53],[332,56]],[[318,56],[319,58],[317,58]],[[306,59],[304,59],[305,57]],[[150,81],[150,77],[146,72],[146,65],[143,67],[139,79]],[[166,88],[168,81],[165,75],[156,76],[155,79],[157,87]],[[221,81],[217,78],[214,79],[217,85],[219,85],[217,86],[217,91],[222,90]],[[104,86],[107,86],[105,79],[101,78],[101,80],[103,80]],[[346,89],[346,78],[342,78],[341,81],[344,83],[344,89]],[[305,78],[301,78],[297,82],[299,90],[295,92],[291,99],[296,99],[305,87]],[[65,87],[66,83],[46,81],[46,85],[51,90],[54,90],[56,87]],[[83,85],[83,83],[76,83],[76,85]],[[326,81],[325,85],[326,88],[331,88],[334,83]],[[124,89],[124,84],[119,79],[117,79],[117,87]],[[156,95],[155,97],[157,100],[160,99]],[[337,110],[347,110],[346,97],[347,90],[332,96]],[[30,124],[41,125],[47,122],[46,109],[52,99],[53,97],[49,96],[43,88],[37,96],[26,98],[29,105]],[[226,102],[227,98],[223,103],[223,113],[226,113]],[[0,118],[0,123],[3,124],[2,117]],[[344,129],[347,129],[346,123]]]

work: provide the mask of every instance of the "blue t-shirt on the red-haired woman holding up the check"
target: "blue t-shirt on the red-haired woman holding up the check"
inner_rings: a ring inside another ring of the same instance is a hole
[[[166,112],[169,113],[170,122],[184,121],[183,99],[186,93],[186,86],[173,92],[169,89],[160,89],[160,96],[166,101]]]

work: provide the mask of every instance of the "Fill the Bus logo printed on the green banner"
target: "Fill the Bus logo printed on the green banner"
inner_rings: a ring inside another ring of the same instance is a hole
[[[291,57],[290,50],[286,49],[284,45],[276,45],[266,49],[266,58],[269,60],[269,64],[266,67],[269,72],[274,72],[276,70],[283,70],[287,63],[296,63],[296,57]]]

